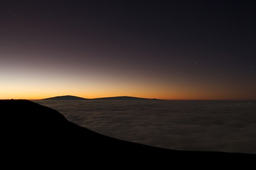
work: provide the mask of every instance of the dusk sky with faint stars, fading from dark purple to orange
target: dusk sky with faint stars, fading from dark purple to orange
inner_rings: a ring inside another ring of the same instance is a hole
[[[256,100],[255,1],[1,1],[0,99]]]

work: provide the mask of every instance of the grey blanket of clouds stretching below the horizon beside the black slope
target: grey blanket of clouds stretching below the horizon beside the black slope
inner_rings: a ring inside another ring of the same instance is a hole
[[[256,154],[256,101],[33,101],[114,138],[187,151]]]

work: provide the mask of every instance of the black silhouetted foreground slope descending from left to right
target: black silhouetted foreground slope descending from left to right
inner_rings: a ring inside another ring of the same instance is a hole
[[[115,139],[75,125],[56,110],[27,100],[0,100],[0,107],[4,127],[1,154],[9,160],[61,159],[129,165],[139,162],[150,166],[159,162],[179,164],[200,160],[218,164],[229,159],[232,162],[255,159],[254,154],[176,151]]]

